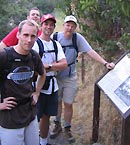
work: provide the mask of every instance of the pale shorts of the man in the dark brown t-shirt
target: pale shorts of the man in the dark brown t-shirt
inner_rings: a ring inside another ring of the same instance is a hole
[[[0,127],[1,145],[39,145],[37,117],[26,127],[7,129]]]

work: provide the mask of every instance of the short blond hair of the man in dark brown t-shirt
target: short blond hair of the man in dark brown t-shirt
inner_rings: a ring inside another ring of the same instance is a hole
[[[37,33],[39,31],[39,27],[38,24],[34,21],[34,20],[23,20],[20,22],[19,26],[18,26],[18,31],[21,33],[23,25],[24,24],[28,24],[29,26],[35,26],[37,29]]]

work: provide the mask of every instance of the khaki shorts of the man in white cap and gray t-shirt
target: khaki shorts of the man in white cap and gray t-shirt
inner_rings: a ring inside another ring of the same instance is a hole
[[[77,77],[57,79],[59,90],[59,101],[72,104],[77,96],[78,84]]]

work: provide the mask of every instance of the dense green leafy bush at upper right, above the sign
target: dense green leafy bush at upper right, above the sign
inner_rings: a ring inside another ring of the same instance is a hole
[[[68,4],[65,13],[77,17],[81,33],[94,48],[106,54],[130,49],[130,1],[65,0],[60,7]]]

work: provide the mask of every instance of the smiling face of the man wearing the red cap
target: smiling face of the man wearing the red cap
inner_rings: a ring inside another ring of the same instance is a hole
[[[45,22],[43,22],[41,24],[41,29],[42,29],[43,34],[50,36],[53,33],[54,29],[55,29],[54,21],[51,20],[51,19],[50,20],[46,20]]]

